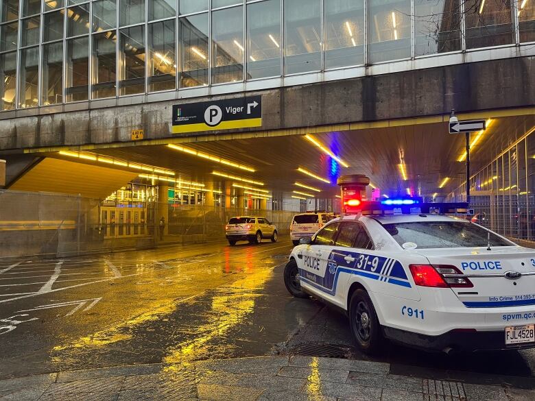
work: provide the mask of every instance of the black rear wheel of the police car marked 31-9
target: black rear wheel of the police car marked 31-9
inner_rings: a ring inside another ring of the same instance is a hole
[[[349,302],[349,326],[358,348],[366,354],[377,354],[383,346],[383,335],[370,296],[357,289]]]

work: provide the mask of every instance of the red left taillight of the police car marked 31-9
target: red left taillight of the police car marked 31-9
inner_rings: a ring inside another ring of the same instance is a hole
[[[462,272],[455,266],[409,265],[409,269],[414,282],[420,287],[473,287],[471,281],[462,277]]]

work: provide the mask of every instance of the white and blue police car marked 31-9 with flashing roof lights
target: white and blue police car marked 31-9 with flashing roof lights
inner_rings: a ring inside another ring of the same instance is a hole
[[[329,221],[292,251],[288,291],[346,311],[364,352],[384,339],[447,353],[535,347],[534,250],[431,207],[396,215],[373,202]]]

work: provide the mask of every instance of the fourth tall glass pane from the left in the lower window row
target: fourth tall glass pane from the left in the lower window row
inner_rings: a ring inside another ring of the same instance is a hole
[[[89,38],[67,40],[67,101],[87,100],[89,77]]]

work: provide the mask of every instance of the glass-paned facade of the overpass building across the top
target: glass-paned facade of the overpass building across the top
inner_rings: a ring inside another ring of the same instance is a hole
[[[175,90],[187,97],[192,88],[281,85],[340,69],[361,76],[375,64],[535,42],[531,0],[0,4],[0,111]]]

